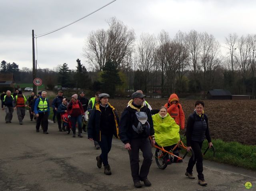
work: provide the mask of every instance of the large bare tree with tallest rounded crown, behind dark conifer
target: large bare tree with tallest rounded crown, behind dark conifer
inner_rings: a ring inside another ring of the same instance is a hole
[[[84,57],[97,70],[102,70],[106,61],[112,61],[120,69],[124,57],[129,54],[135,41],[135,33],[115,17],[107,21],[108,30],[97,30],[88,35],[83,48]]]

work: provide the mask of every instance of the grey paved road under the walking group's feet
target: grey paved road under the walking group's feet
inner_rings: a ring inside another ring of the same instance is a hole
[[[58,132],[57,124],[49,123],[48,135],[36,133],[35,122],[26,113],[23,125],[18,124],[16,111],[11,124],[5,124],[0,111],[0,190],[1,191],[126,191],[137,190],[132,184],[128,152],[120,140],[113,140],[109,154],[112,175],[96,166],[93,143],[86,135],[72,138]],[[154,152],[154,151],[153,151]],[[141,156],[142,161],[142,156]],[[206,187],[188,179],[187,160],[161,170],[153,160],[148,191],[244,191],[256,190],[256,172],[204,161]],[[195,170],[195,169],[194,169]],[[194,173],[196,174],[196,172]],[[250,181],[254,187],[246,189]]]

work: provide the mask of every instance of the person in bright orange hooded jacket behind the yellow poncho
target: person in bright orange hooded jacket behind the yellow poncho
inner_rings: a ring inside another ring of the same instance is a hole
[[[179,103],[179,98],[176,94],[170,95],[168,103],[164,105],[167,108],[169,115],[175,120],[176,124],[180,126],[180,129],[185,127],[185,115],[182,110],[182,106]]]

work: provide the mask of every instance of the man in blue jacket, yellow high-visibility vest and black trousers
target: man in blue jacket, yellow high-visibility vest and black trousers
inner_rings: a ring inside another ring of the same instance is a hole
[[[42,95],[36,99],[34,106],[34,113],[36,114],[36,132],[39,132],[40,125],[42,125],[44,134],[48,134],[48,116],[50,115],[50,106],[46,95],[47,92],[42,91]]]

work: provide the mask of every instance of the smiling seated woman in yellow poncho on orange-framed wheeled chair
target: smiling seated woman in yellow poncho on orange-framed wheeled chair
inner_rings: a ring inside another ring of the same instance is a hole
[[[161,107],[158,114],[152,116],[155,130],[156,144],[163,146],[165,150],[170,151],[180,140],[180,126],[176,124],[174,119],[167,113],[166,107]],[[177,147],[173,154],[179,156],[179,148]],[[169,155],[166,155],[167,163],[171,163]],[[173,162],[182,162],[174,158]]]

